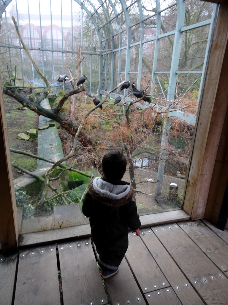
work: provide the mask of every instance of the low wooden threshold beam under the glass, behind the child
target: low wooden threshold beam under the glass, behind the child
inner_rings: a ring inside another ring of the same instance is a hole
[[[176,221],[186,221],[189,219],[190,216],[183,210],[175,210],[140,216],[141,228]],[[38,246],[49,242],[57,242],[61,240],[70,240],[75,238],[85,238],[90,236],[90,231],[90,225],[83,224],[80,226],[69,228],[22,234],[19,235],[18,247],[23,248],[27,246]]]

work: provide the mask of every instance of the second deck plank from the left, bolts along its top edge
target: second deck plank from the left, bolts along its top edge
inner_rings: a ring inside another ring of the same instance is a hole
[[[20,251],[14,305],[31,304],[60,304],[55,245]]]

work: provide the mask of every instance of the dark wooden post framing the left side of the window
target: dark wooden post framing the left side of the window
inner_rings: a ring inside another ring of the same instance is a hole
[[[2,84],[1,75],[0,81]],[[19,232],[2,86],[0,89],[0,154],[0,241],[2,251],[10,252],[17,249]]]

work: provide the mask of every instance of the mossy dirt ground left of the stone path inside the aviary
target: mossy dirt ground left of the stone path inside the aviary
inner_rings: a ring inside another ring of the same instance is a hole
[[[17,135],[21,132],[27,134],[30,128],[36,128],[37,130],[39,116],[29,109],[22,110],[22,105],[9,97],[5,98],[4,106],[10,148],[37,154],[37,142],[17,139]],[[15,162],[30,171],[36,169],[36,160],[29,156],[21,156],[11,152],[11,162]],[[12,167],[12,172],[14,179],[23,175],[14,167]]]

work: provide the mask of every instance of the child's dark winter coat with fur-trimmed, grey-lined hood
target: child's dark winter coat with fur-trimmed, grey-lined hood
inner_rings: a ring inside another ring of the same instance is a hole
[[[89,217],[93,242],[105,264],[119,266],[128,248],[129,228],[141,225],[134,190],[128,182],[104,177],[92,179],[88,188],[82,212]]]

